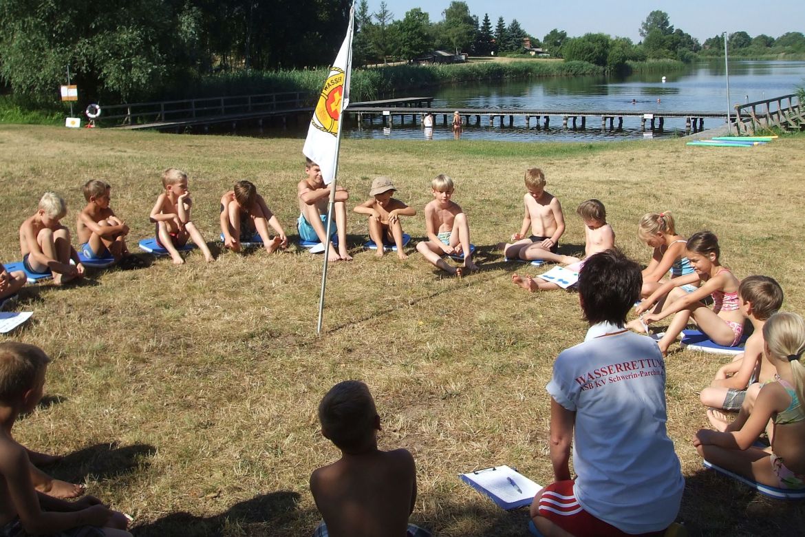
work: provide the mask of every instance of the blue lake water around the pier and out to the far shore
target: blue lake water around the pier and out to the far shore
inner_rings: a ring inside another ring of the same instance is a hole
[[[663,75],[666,81],[662,81]],[[794,93],[797,86],[805,85],[805,61],[730,61],[729,102],[731,105],[760,101]],[[681,71],[638,73],[626,77],[576,76],[554,77],[535,81],[506,81],[462,84],[437,89],[419,89],[386,97],[433,96],[435,108],[514,108],[564,110],[635,110],[658,113],[669,110],[724,112],[727,109],[727,89],[724,61],[693,64]],[[634,104],[632,100],[634,99]],[[731,112],[734,112],[731,109]],[[350,118],[353,118],[351,116]],[[448,122],[451,118],[448,117]],[[422,126],[395,120],[391,128],[376,119],[374,125],[363,122],[360,126],[351,119],[345,123],[345,138],[419,138],[426,135]],[[304,122],[302,122],[304,123]],[[706,118],[705,129],[723,126],[725,119]],[[579,122],[580,125],[580,122]],[[617,126],[617,121],[616,121]],[[514,118],[514,126],[489,125],[488,117],[481,117],[475,125],[474,116],[464,127],[462,139],[516,140],[516,141],[590,141],[637,139],[647,136],[667,137],[685,134],[684,118],[666,118],[663,133],[644,133],[639,118],[624,118],[622,131],[601,130],[601,118],[589,117],[586,130],[563,128],[559,117],[551,117],[548,130],[537,129],[532,118],[530,128],[525,118]],[[246,134],[246,133],[238,133]],[[304,138],[307,124],[287,129],[266,129],[264,136]],[[428,133],[430,134],[430,133]],[[449,125],[442,116],[436,117],[432,139],[452,139]]]

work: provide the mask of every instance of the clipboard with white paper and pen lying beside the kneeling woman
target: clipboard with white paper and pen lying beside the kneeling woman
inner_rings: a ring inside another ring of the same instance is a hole
[[[530,506],[543,489],[528,477],[509,466],[495,466],[459,474],[461,481],[481,494],[489,496],[498,507],[510,510]]]

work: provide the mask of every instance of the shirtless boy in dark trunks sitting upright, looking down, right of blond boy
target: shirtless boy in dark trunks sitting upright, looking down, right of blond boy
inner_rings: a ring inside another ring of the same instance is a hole
[[[578,261],[567,255],[559,255],[559,238],[564,233],[564,213],[559,200],[545,191],[545,175],[538,167],[526,170],[526,190],[523,202],[526,214],[522,217],[520,233],[511,236],[512,244],[502,247],[507,259],[522,259],[569,264]],[[530,229],[530,236],[526,235]]]

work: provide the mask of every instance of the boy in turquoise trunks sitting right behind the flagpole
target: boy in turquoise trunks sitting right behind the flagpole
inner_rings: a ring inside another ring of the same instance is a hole
[[[308,242],[324,244],[327,239],[327,204],[330,198],[331,186],[324,184],[321,168],[311,159],[305,159],[305,178],[296,185],[296,194],[299,197],[299,219],[296,227],[299,229],[299,238]],[[333,212],[336,217],[336,233],[338,235],[338,251],[332,247],[327,256],[328,262],[352,261],[347,250],[347,200],[349,192],[346,188],[337,187],[335,206]],[[332,233],[332,229],[330,229]]]

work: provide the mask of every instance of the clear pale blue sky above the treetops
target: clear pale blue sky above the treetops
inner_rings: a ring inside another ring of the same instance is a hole
[[[380,0],[368,0],[369,10],[375,12]],[[668,14],[674,28],[680,28],[704,43],[704,39],[723,31],[745,31],[754,37],[766,34],[778,38],[788,31],[805,33],[805,2],[803,0],[675,0],[654,2],[651,0],[559,0],[559,2],[535,2],[534,0],[464,0],[470,14],[479,20],[489,14],[494,28],[498,17],[506,24],[517,19],[523,30],[538,39],[543,39],[553,28],[576,37],[588,32],[601,32],[618,37],[629,37],[635,43],[641,38],[640,24],[653,10]],[[431,23],[443,19],[442,12],[450,0],[386,0],[386,6],[394,20],[403,19],[406,11],[415,7],[430,14]]]

